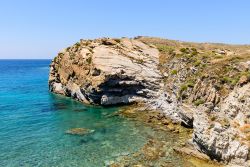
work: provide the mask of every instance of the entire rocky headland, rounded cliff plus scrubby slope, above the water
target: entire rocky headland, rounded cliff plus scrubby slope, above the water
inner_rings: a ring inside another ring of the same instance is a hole
[[[193,128],[189,146],[249,166],[249,60],[249,46],[81,40],[52,61],[49,88],[88,104],[144,103]]]

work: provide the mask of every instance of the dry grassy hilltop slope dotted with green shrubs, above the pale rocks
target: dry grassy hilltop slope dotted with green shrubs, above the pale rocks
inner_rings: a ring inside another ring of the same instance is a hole
[[[173,77],[179,73],[180,69],[171,69],[168,63],[172,60],[181,62],[184,59],[186,70],[190,71],[191,67],[195,67],[197,72],[189,73],[182,84],[206,77],[216,84],[222,97],[237,85],[242,76],[242,71],[235,67],[240,62],[250,60],[250,45],[195,43],[154,37],[138,37],[137,39],[150,45],[153,44],[159,49],[159,69],[162,73],[167,72],[169,76]],[[171,77],[166,78],[165,81],[174,82]]]

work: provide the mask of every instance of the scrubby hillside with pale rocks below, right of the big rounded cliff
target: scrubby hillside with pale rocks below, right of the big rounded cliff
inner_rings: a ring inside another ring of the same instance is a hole
[[[249,46],[139,38],[160,50],[165,94],[161,107],[193,127],[191,144],[211,159],[250,166]]]

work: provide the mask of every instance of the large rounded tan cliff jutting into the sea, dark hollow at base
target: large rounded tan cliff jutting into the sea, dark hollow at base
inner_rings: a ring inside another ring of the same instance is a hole
[[[144,101],[159,89],[158,56],[133,39],[81,40],[52,61],[50,91],[99,105]]]

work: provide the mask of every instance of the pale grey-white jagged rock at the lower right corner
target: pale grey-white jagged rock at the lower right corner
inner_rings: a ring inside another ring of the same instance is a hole
[[[212,159],[247,166],[250,136],[250,84],[235,87],[219,113],[199,107],[194,114],[193,142]],[[211,119],[214,114],[216,118]]]

